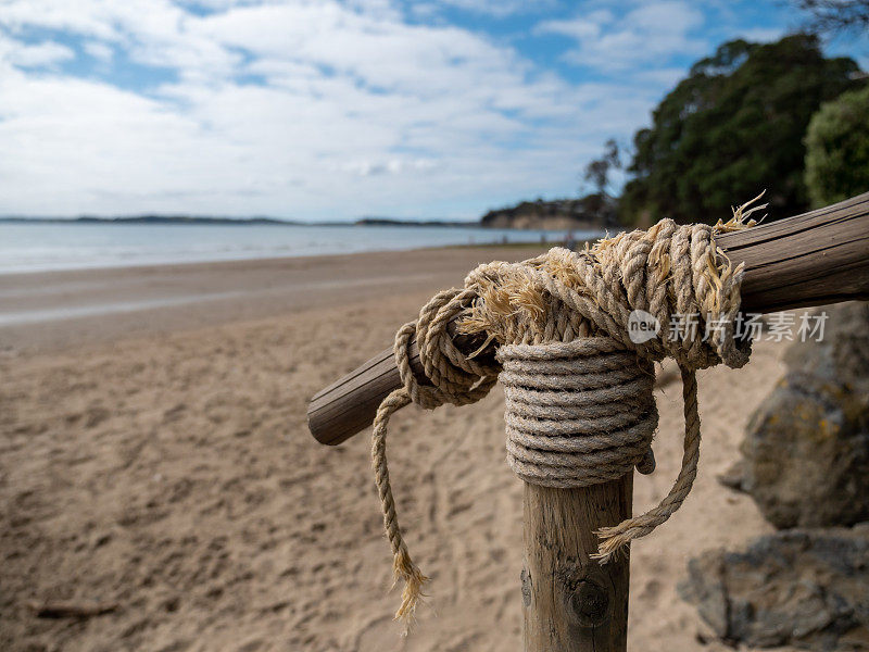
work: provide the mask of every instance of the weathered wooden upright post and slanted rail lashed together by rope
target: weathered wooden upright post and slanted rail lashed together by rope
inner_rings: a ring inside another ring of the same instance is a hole
[[[752,229],[716,244],[745,264],[742,310],[769,313],[869,298],[869,192]],[[450,330],[470,354],[484,338]],[[483,356],[491,359],[490,346]],[[418,351],[411,365],[426,383]],[[401,387],[391,349],[318,392],[308,406],[317,441],[338,444],[370,425],[380,401]],[[595,530],[631,516],[633,473],[577,489],[525,485],[521,599],[525,650],[621,651],[627,647],[628,554],[599,565]]]

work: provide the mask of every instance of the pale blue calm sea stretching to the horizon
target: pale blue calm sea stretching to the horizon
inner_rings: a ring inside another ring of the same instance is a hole
[[[575,231],[578,240],[601,234]],[[432,226],[0,223],[0,274],[547,242],[564,231]]]

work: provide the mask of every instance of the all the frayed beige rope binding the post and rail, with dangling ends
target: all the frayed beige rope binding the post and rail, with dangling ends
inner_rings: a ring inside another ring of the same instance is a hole
[[[464,289],[436,294],[416,322],[399,329],[394,352],[403,387],[380,404],[371,449],[394,576],[404,580],[398,619],[410,626],[428,579],[402,538],[386,459],[389,418],[411,402],[429,410],[474,403],[500,379],[506,398],[507,461],[514,472],[534,485],[584,487],[617,479],[634,466],[652,472],[658,423],[653,363],[672,358],[681,371],[684,399],[681,471],[656,507],[596,532],[602,541],[595,557],[606,563],[679,509],[700,457],[695,372],[720,362],[741,367],[748,360],[751,342],[734,338],[742,265],[730,264],[714,236],[753,226],[747,216],[764,206],[746,211],[751,203],[714,227],[664,220],[579,253],[554,248],[520,263],[480,265]],[[671,323],[677,327],[642,341],[629,333],[638,314],[660,328]],[[672,319],[679,315],[695,315],[696,321],[680,325]],[[487,334],[484,346],[498,343],[501,366],[456,349],[446,331],[456,317],[464,333]],[[430,386],[419,385],[411,369],[414,335]]]

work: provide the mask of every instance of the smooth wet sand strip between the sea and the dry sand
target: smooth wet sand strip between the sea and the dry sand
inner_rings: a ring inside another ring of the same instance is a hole
[[[0,274],[0,352],[295,314],[390,292],[433,292],[461,285],[479,263],[521,260],[545,247],[452,246]]]

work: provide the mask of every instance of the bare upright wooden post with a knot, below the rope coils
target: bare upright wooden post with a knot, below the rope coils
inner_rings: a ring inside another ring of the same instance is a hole
[[[525,485],[526,652],[624,652],[630,553],[601,566],[594,530],[631,516],[633,474],[580,489]]]

